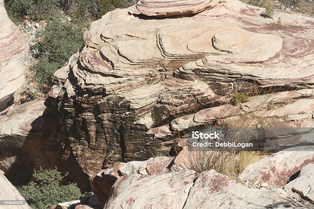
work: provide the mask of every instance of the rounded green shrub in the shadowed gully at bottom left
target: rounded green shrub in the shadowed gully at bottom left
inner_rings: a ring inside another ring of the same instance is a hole
[[[76,184],[60,185],[60,181],[65,176],[62,176],[57,168],[54,170],[41,168],[39,172],[35,172],[34,177],[38,183],[31,181],[18,188],[33,209],[45,209],[51,205],[77,200],[81,197],[80,189]]]

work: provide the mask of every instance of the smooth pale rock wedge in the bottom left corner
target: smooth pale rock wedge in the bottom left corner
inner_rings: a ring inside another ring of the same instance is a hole
[[[17,191],[17,189],[7,180],[7,178],[0,174],[0,200],[24,200],[25,198]],[[1,209],[31,209],[26,203],[25,205],[1,205]]]

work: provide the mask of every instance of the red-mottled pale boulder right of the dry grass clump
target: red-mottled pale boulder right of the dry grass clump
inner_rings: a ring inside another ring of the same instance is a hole
[[[248,165],[239,178],[244,181],[274,182],[275,185],[284,186],[294,180],[300,170],[311,162],[314,162],[313,146],[285,149]]]

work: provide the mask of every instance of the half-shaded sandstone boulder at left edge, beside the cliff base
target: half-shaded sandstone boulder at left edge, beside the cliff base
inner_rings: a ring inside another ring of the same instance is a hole
[[[44,101],[27,102],[0,122],[0,169],[29,180],[43,142],[36,138],[46,109]]]

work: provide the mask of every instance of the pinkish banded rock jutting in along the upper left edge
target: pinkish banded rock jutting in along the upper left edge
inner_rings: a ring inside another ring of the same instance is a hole
[[[27,47],[19,28],[9,19],[0,0],[0,122],[13,104],[14,92],[23,84],[22,56]]]

